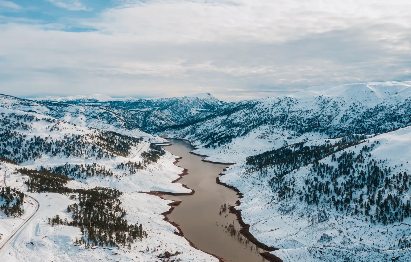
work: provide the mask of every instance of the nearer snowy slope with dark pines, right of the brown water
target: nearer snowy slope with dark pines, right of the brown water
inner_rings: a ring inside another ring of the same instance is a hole
[[[248,158],[220,181],[240,190],[250,232],[283,261],[411,260],[411,127],[339,141]]]

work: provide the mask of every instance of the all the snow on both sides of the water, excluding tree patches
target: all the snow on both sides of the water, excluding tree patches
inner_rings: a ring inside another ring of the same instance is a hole
[[[323,144],[326,140],[330,140],[330,143],[335,143],[341,138],[328,139],[325,133],[314,131],[298,134],[286,127],[261,124],[253,126],[251,131],[245,135],[235,136],[230,142],[216,146],[215,148],[205,148],[205,143],[201,142],[200,139],[202,135],[207,135],[210,131],[218,135],[232,135],[238,130],[244,129],[242,125],[242,121],[244,120],[259,120],[266,115],[281,115],[284,113],[289,114],[289,118],[302,115],[308,120],[319,119],[320,121],[323,120],[321,117],[324,117],[329,121],[326,123],[329,124],[330,128],[349,129],[351,123],[344,120],[346,117],[350,117],[350,119],[356,119],[356,117],[361,118],[364,113],[369,112],[369,110],[374,110],[377,106],[385,106],[388,108],[387,110],[392,110],[390,112],[400,112],[406,115],[406,109],[400,106],[405,105],[405,108],[407,108],[411,97],[410,91],[411,81],[309,87],[306,90],[285,97],[266,97],[252,101],[231,103],[227,106],[251,104],[255,105],[255,107],[245,107],[234,113],[217,115],[212,119],[205,118],[204,121],[193,126],[187,126],[180,130],[171,130],[167,138],[190,140],[193,145],[196,146],[194,153],[208,156],[205,158],[206,161],[237,163],[231,165],[226,172],[224,172],[225,175],[220,177],[220,181],[238,188],[240,193],[243,194],[240,206],[237,208],[242,211],[243,221],[251,225],[249,231],[261,243],[280,248],[277,251],[273,251],[272,254],[280,257],[284,262],[371,262],[387,261],[398,256],[401,257],[399,261],[411,261],[411,249],[405,248],[399,250],[396,246],[402,234],[410,235],[409,231],[411,228],[409,225],[411,225],[411,218],[406,218],[403,221],[404,224],[399,225],[384,226],[381,223],[373,225],[365,222],[365,216],[363,215],[347,216],[344,214],[344,216],[342,216],[336,212],[334,208],[326,205],[319,207],[307,206],[305,202],[300,202],[296,199],[278,202],[267,183],[272,174],[268,174],[268,178],[262,178],[258,172],[247,172],[245,170],[246,165],[244,161],[247,156],[256,155],[271,149],[278,149],[284,145],[291,145],[297,142],[306,142],[305,145],[315,145]],[[218,99],[215,99],[215,97],[212,97],[209,93],[196,94],[193,95],[192,98],[193,97],[206,102],[217,103],[220,106],[224,104],[218,101]],[[99,100],[107,98],[83,97],[80,99]],[[175,100],[163,99],[160,102],[169,103],[171,101]],[[48,114],[48,108],[35,102],[20,103],[2,98],[1,103],[3,107],[7,108],[18,107],[21,110],[34,110],[38,113]],[[196,103],[193,103],[193,100],[188,97],[183,97],[179,100],[176,107],[181,104],[195,105]],[[67,114],[60,119],[75,123],[78,126],[61,123],[62,128],[66,128],[72,133],[87,133],[89,132],[88,129],[81,126],[92,126],[113,130],[128,136],[141,136],[145,141],[150,140],[150,142],[157,143],[167,142],[164,138],[152,136],[139,129],[128,130],[115,124],[109,124],[104,119],[90,119],[88,116],[96,113],[96,111],[93,110],[85,106],[73,106],[67,109]],[[200,117],[202,116],[201,110],[195,109],[195,107],[192,107],[190,110],[192,115],[198,114]],[[167,116],[175,112],[178,112],[178,110],[173,109],[167,112],[158,110],[155,112],[155,116],[158,117],[155,120],[166,123],[170,121]],[[383,115],[379,112],[375,118],[369,120],[369,123],[372,124],[373,121],[378,121],[382,118]],[[402,120],[405,121],[405,118],[406,117]],[[238,125],[238,129],[229,129],[227,126],[224,126],[226,122],[232,123],[233,126]],[[400,127],[401,124],[400,121],[394,121],[383,123],[382,126],[386,126],[387,129],[395,129],[396,127]],[[33,124],[30,135],[34,134],[53,137],[60,135],[54,131],[49,132],[42,126],[42,123],[38,123],[38,126]],[[375,137],[373,134],[369,134],[367,140],[369,141],[364,142],[360,146],[344,149],[342,152],[336,153],[336,155],[339,156],[344,151],[352,151],[357,154],[363,145],[372,145],[374,141],[378,140],[378,146],[372,149],[370,152],[371,156],[367,156],[367,161],[371,161],[371,159],[377,162],[379,160],[386,160],[386,162],[381,165],[391,166],[395,172],[409,172],[411,168],[411,127],[400,128]],[[145,150],[143,147],[147,147],[147,145],[148,144],[142,144],[141,147],[134,149],[134,152],[140,149]],[[133,161],[139,160],[139,154],[132,154],[130,157],[132,157]],[[42,201],[42,207],[51,205],[50,209],[48,211],[47,209],[42,209],[42,211],[36,215],[36,222],[31,222],[30,226],[28,226],[31,231],[25,230],[24,234],[19,236],[12,245],[8,246],[4,254],[11,254],[7,255],[7,259],[10,259],[10,261],[23,260],[24,256],[32,257],[31,261],[42,261],[42,259],[48,259],[49,257],[53,257],[53,261],[97,261],[108,259],[132,261],[131,258],[133,257],[136,257],[134,261],[156,261],[155,255],[157,255],[157,253],[169,250],[173,252],[181,251],[182,254],[179,258],[181,258],[182,261],[194,261],[193,257],[195,261],[217,261],[214,257],[189,246],[185,239],[174,234],[176,228],[163,220],[164,216],[160,214],[169,210],[169,206],[167,205],[170,201],[141,193],[148,191],[167,191],[171,193],[190,192],[189,189],[182,187],[181,184],[171,183],[177,179],[178,174],[182,172],[181,168],[172,164],[175,157],[176,156],[166,153],[158,163],[153,163],[148,169],[141,170],[132,176],[122,175],[122,171],[115,170],[116,163],[125,161],[127,158],[117,157],[116,159],[103,159],[99,161],[99,164],[106,168],[113,169],[115,176],[104,177],[103,179],[101,177],[91,177],[83,181],[86,184],[79,181],[69,183],[69,186],[73,188],[106,186],[117,188],[125,192],[122,196],[122,202],[124,207],[129,211],[127,219],[136,222],[144,221],[143,224],[148,225],[148,229],[150,230],[149,234],[152,236],[150,239],[143,239],[141,243],[136,243],[136,252],[134,252],[133,248],[130,252],[120,248],[120,250],[115,250],[115,252],[118,252],[118,255],[113,255],[114,251],[97,248],[84,250],[73,246],[74,237],[79,235],[76,228],[62,226],[52,228],[44,222],[45,218],[51,216],[51,214],[61,214],[62,217],[67,216],[64,208],[61,207],[67,206],[67,203],[71,200],[68,200],[62,195],[53,195],[53,202],[47,199],[48,197],[45,197],[44,194],[35,194],[33,196]],[[95,162],[95,160],[49,159],[45,156],[39,163],[25,164],[51,166],[66,162],[92,163]],[[331,164],[330,157],[322,159],[320,162]],[[295,179],[295,190],[301,189],[302,186],[304,186],[304,181],[310,174],[311,166],[312,165],[306,165],[286,175],[286,179]],[[25,190],[21,182],[23,178],[18,177],[18,174],[11,175],[8,179],[12,186],[20,190]],[[16,179],[18,182],[12,182]],[[353,197],[358,198],[358,195],[359,192]],[[407,192],[404,195],[404,199],[410,198],[411,195]],[[44,206],[43,203],[46,206]],[[60,207],[60,209],[58,209],[58,207]],[[30,206],[28,208],[30,208]],[[312,216],[320,214],[322,210],[324,210],[327,218],[324,219],[324,221],[310,224],[308,220],[312,218]],[[373,212],[374,210],[370,211],[370,213]],[[0,227],[0,230],[4,230],[6,234],[9,234],[10,230],[12,230],[12,228],[10,228],[10,221],[5,222],[4,225],[2,223],[3,222],[0,222],[0,225],[2,225],[3,228]],[[35,232],[39,232],[39,235],[37,236]],[[321,240],[324,235],[330,239],[327,240],[326,237],[326,240]],[[43,240],[42,238],[44,236],[48,237]],[[37,246],[32,246],[31,244],[25,245],[28,240],[36,241],[33,243],[36,243]],[[41,245],[38,244],[40,243],[46,244],[46,246],[39,248],[38,246]],[[147,246],[149,247],[148,252],[144,251]],[[154,251],[155,249],[157,250]]]

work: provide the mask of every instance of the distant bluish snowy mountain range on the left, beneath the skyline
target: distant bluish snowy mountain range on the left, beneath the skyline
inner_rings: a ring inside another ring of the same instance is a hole
[[[0,95],[0,106],[37,112],[59,120],[97,129],[149,136],[164,126],[180,124],[196,115],[207,113],[226,104],[210,94],[198,97],[165,99],[111,99],[92,95],[33,101]],[[51,98],[51,97],[48,97]],[[100,101],[104,100],[104,101]]]

